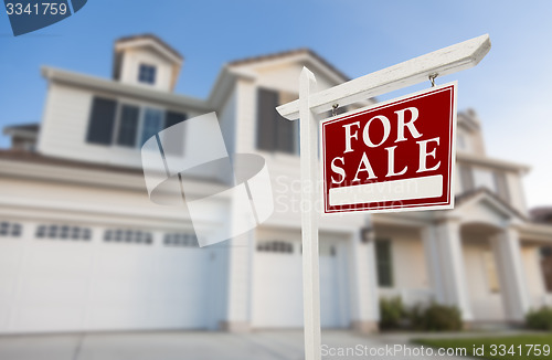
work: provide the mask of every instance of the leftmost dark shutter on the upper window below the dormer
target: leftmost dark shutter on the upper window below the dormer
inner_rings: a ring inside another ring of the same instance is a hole
[[[115,125],[117,102],[108,98],[94,97],[86,141],[92,144],[110,145]]]

